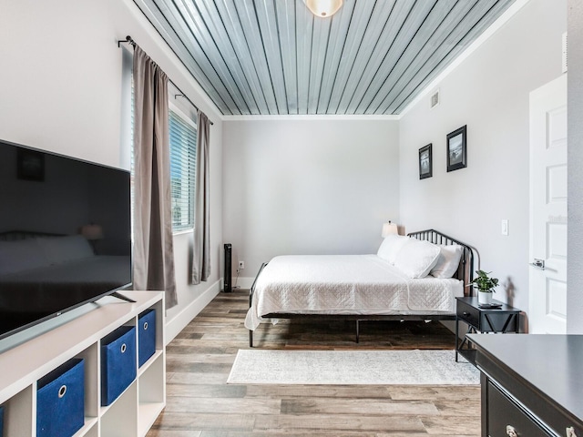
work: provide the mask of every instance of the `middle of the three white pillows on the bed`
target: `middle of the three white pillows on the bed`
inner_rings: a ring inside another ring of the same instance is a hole
[[[394,267],[409,278],[424,278],[434,268],[440,249],[429,241],[409,239],[399,250]]]

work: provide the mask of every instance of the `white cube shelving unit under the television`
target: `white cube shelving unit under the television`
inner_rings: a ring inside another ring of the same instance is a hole
[[[90,304],[93,310],[0,354],[5,437],[36,437],[36,381],[72,358],[85,359],[85,425],[75,437],[146,435],[166,405],[164,293],[122,293],[136,303],[108,296]],[[136,326],[148,309],[156,310],[156,352],[118,399],[102,407],[100,341],[120,326]]]

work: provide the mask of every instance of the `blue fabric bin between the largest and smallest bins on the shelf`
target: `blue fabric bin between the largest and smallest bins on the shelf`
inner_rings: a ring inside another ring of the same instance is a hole
[[[101,405],[118,399],[136,379],[136,328],[122,326],[101,339]]]

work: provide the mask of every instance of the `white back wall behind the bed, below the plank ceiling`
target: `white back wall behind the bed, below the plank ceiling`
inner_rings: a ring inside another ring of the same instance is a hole
[[[398,220],[398,124],[225,121],[223,235],[243,277],[283,254],[373,253]]]

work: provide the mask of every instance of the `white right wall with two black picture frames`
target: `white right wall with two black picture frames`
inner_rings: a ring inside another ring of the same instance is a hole
[[[401,219],[475,246],[481,267],[528,309],[528,93],[561,74],[566,0],[532,0],[469,56],[400,124]],[[467,125],[467,168],[447,173],[445,136]],[[419,180],[419,147],[433,143],[434,177]],[[509,235],[500,221],[509,220]],[[504,290],[496,299],[506,300]]]

